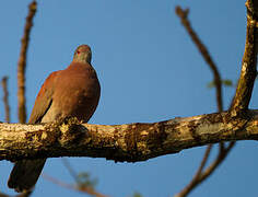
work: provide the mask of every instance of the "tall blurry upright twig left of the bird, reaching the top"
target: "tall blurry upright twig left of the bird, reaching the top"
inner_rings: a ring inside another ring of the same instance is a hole
[[[30,33],[33,26],[33,18],[37,10],[37,3],[34,0],[28,5],[28,14],[26,18],[26,24],[24,28],[24,35],[22,38],[22,46],[20,58],[17,62],[17,106],[19,106],[19,121],[26,121],[26,99],[25,99],[25,69],[27,58],[27,46],[30,40]]]

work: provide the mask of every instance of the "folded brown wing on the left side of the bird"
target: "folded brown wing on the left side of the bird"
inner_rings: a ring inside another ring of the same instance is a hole
[[[55,90],[55,81],[59,71],[52,72],[44,82],[37,94],[28,124],[40,123],[43,116],[50,108],[52,103],[52,94]]]

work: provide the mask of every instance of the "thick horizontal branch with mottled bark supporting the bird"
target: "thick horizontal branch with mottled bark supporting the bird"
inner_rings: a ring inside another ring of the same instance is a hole
[[[0,160],[92,157],[137,162],[209,143],[258,139],[258,111],[215,113],[153,124],[0,124]]]

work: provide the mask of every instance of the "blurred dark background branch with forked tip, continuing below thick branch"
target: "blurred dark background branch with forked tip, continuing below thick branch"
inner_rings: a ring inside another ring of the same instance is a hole
[[[183,10],[180,7],[176,7],[176,13],[181,20],[181,24],[185,26],[187,30],[188,34],[190,35],[192,42],[196,44],[197,48],[201,53],[202,57],[209,65],[209,67],[212,70],[213,78],[214,78],[214,84],[216,89],[216,104],[218,104],[218,111],[222,112],[223,111],[223,101],[222,101],[222,80],[220,77],[220,72],[218,70],[216,65],[212,60],[210,53],[208,51],[207,47],[202,44],[200,40],[199,36],[196,34],[196,32],[192,30],[191,24],[188,20],[188,13],[189,9]],[[204,157],[201,161],[201,164],[190,181],[190,183],[179,193],[176,195],[176,197],[185,197],[187,196],[194,188],[196,188],[202,181],[204,181],[209,175],[211,175],[214,170],[221,164],[226,155],[228,154],[230,150],[234,147],[235,142],[231,142],[227,149],[224,148],[224,143],[220,142],[220,151],[218,153],[216,159],[211,163],[210,166],[208,166],[204,171],[204,165],[207,164],[209,154],[211,152],[212,146],[208,146],[207,151],[204,153]]]

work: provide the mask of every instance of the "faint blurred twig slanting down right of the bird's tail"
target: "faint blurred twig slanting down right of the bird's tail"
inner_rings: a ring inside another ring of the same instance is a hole
[[[71,184],[67,184],[67,183],[63,183],[63,182],[60,182],[59,179],[56,179],[47,174],[43,174],[43,177],[45,179],[48,179],[50,182],[52,182],[54,184],[56,185],[59,185],[61,187],[64,187],[64,188],[68,188],[68,189],[73,189],[73,190],[77,190],[77,192],[81,192],[81,193],[86,193],[91,196],[95,196],[95,197],[108,197],[106,195],[103,195],[101,193],[97,193],[94,188],[92,187],[78,187],[78,186],[74,186],[74,185],[71,185]]]

